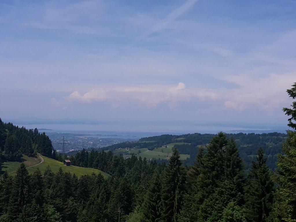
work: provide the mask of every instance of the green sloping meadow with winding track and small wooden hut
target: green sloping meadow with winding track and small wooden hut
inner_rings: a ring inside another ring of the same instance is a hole
[[[39,168],[41,170],[41,172],[44,173],[47,166],[49,165],[52,172],[57,172],[59,170],[59,168],[61,167],[64,172],[70,172],[71,174],[75,173],[76,176],[78,176],[78,177],[81,177],[82,175],[87,175],[87,174],[90,175],[92,173],[95,173],[95,174],[101,173],[104,176],[104,178],[107,178],[109,176],[107,173],[104,173],[101,170],[97,170],[97,169],[93,169],[93,168],[78,167],[78,166],[65,166],[62,162],[59,162],[57,160],[54,160],[54,159],[51,159],[48,157],[44,157],[44,156],[42,156],[42,157],[44,158],[44,163],[27,168],[29,173],[33,173],[37,168]],[[23,158],[22,158],[25,160],[24,161],[25,165],[29,164],[29,163],[26,164],[26,161],[30,162],[31,165],[34,165],[33,160],[30,160],[28,158],[31,158],[31,157],[23,156]],[[37,163],[40,163],[40,160],[38,160],[38,161],[39,162],[37,162]],[[21,164],[21,162],[5,162],[2,165],[2,170],[7,170],[7,172],[15,171],[20,166],[20,164]],[[27,166],[29,166],[29,165],[27,165]],[[15,172],[12,172],[9,174],[14,176]]]

